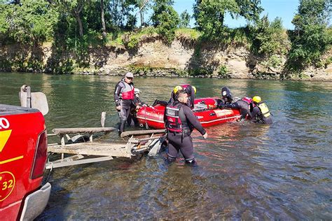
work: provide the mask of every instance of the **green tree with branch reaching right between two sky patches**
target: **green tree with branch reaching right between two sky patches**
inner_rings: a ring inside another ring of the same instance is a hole
[[[194,17],[198,30],[205,38],[219,38],[225,30],[224,19],[226,13],[235,18],[258,20],[263,10],[260,0],[196,0]]]

